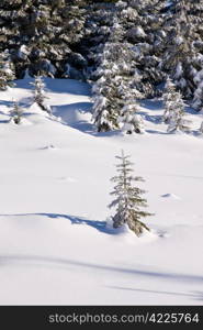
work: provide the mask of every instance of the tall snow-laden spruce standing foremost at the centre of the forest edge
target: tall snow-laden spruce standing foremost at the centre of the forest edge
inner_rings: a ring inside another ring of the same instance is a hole
[[[138,74],[135,53],[131,45],[122,40],[122,26],[115,23],[109,41],[104,44],[100,65],[94,75],[93,122],[99,132],[119,129],[119,117],[129,100],[142,98],[137,90]]]

